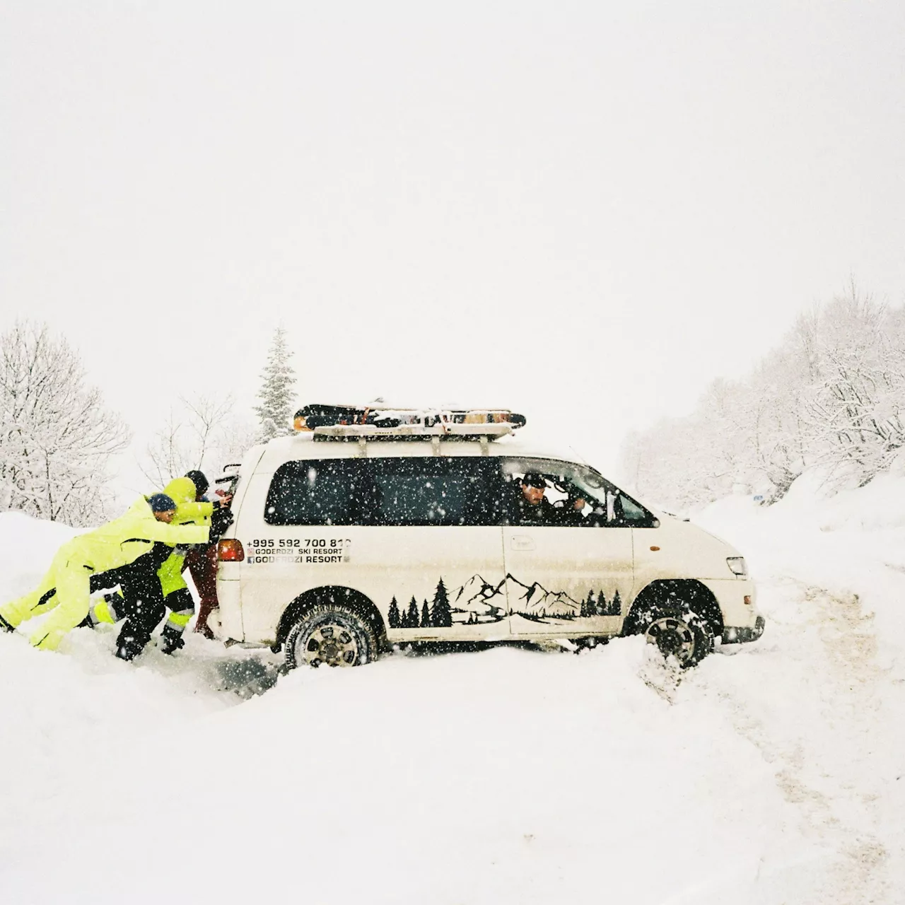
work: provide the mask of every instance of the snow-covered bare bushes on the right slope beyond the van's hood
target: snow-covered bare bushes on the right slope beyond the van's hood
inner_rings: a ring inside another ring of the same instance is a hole
[[[688,510],[739,485],[776,500],[805,468],[862,486],[905,450],[905,310],[852,285],[798,319],[754,370],[715,381],[687,417],[630,435],[623,471]]]

